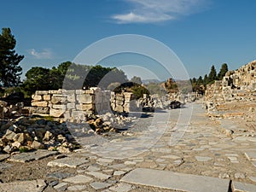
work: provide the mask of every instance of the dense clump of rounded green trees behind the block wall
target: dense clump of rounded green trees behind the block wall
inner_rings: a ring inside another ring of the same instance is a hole
[[[109,84],[126,81],[125,73],[115,67],[92,67],[67,61],[51,69],[32,67],[26,73],[22,89],[26,96],[31,96],[36,90],[76,90],[94,86],[107,89]]]

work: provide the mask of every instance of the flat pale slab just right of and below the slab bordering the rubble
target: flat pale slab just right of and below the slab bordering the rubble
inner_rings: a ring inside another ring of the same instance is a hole
[[[67,166],[71,168],[76,168],[77,166],[81,166],[84,163],[88,163],[89,160],[86,160],[85,158],[79,158],[79,157],[66,157],[58,160],[52,160],[49,161],[47,166]]]

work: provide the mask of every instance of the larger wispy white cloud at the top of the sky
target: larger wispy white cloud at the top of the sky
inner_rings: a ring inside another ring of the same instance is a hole
[[[124,0],[131,3],[133,9],[128,13],[113,15],[119,24],[158,23],[177,20],[182,15],[191,15],[200,11],[209,0]]]

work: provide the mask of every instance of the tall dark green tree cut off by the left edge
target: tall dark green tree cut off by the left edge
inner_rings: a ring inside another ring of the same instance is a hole
[[[22,68],[19,66],[23,55],[15,53],[16,40],[9,28],[3,28],[0,35],[0,87],[20,84]]]

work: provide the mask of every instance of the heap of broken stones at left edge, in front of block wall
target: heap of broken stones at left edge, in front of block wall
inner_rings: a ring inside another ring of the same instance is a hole
[[[33,149],[70,153],[76,148],[67,125],[42,118],[20,117],[0,122],[0,151],[12,153]]]

